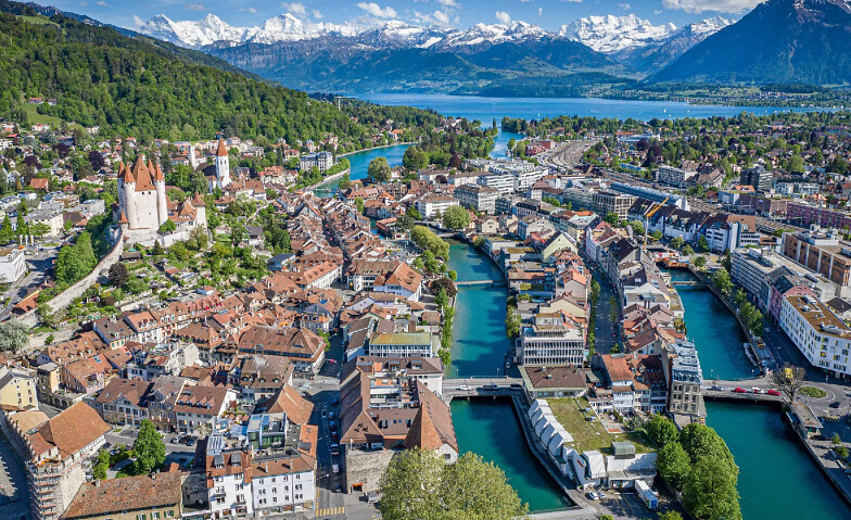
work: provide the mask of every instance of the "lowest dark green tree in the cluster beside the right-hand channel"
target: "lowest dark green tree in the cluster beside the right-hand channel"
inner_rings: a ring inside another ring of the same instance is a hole
[[[683,485],[683,504],[700,520],[740,520],[733,470],[714,457],[700,457]]]

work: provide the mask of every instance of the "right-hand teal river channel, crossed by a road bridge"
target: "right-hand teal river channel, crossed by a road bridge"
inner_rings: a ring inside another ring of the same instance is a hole
[[[691,274],[677,270],[671,271],[671,278],[694,279]],[[676,289],[685,309],[686,334],[700,355],[703,377],[752,377],[755,370],[741,347],[745,335],[727,307],[709,289]],[[851,518],[851,509],[829,485],[779,411],[749,404],[707,402],[707,423],[736,457],[745,520]]]

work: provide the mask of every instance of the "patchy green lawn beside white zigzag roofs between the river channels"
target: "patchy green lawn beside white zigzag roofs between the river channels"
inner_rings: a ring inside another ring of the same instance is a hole
[[[584,411],[588,407],[588,401],[584,397],[547,401],[552,414],[573,436],[572,446],[579,452],[597,449],[604,455],[613,455],[611,443],[618,441],[630,441],[635,444],[635,453],[649,453],[657,449],[643,431],[619,434],[607,432],[593,411]],[[593,417],[594,420],[589,421],[587,417]]]

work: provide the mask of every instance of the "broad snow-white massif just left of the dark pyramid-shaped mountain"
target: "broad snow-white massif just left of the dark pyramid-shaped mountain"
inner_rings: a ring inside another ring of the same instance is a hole
[[[588,16],[562,25],[559,36],[585,43],[595,51],[611,54],[666,40],[676,31],[674,24],[653,25],[634,14]]]

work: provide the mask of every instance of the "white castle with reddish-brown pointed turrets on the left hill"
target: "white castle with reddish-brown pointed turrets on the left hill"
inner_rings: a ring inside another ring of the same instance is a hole
[[[157,240],[170,245],[189,238],[193,228],[207,226],[204,200],[195,193],[180,203],[169,201],[160,165],[150,160],[145,163],[141,155],[132,167],[124,163],[118,166],[118,204],[114,211],[124,239],[142,245],[153,245]],[[160,227],[167,220],[175,223],[176,229],[161,237]]]

